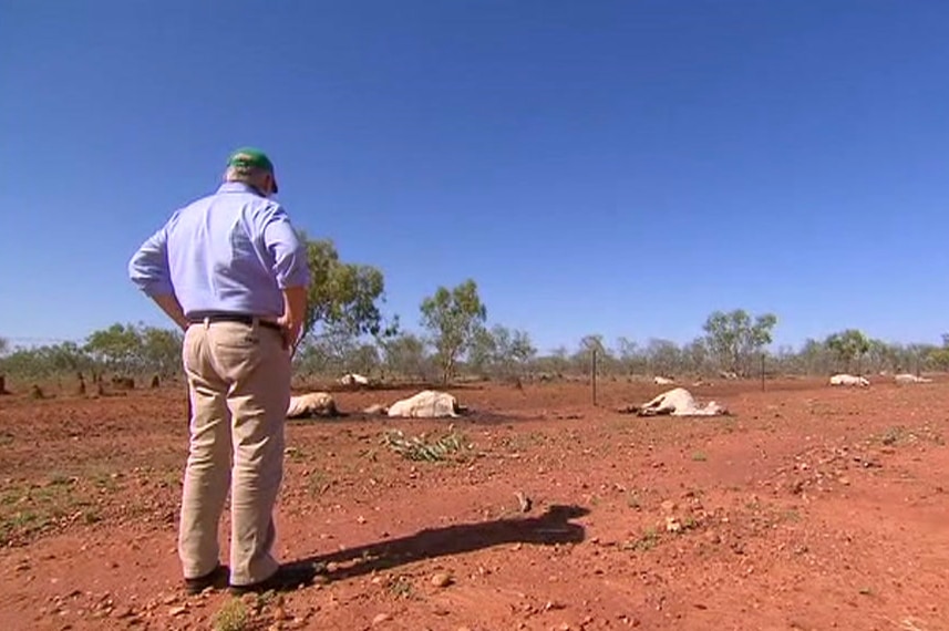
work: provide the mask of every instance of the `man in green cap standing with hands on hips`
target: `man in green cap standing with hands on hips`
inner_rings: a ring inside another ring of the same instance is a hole
[[[231,591],[292,588],[313,577],[312,568],[280,566],[271,555],[307,252],[271,199],[277,178],[266,154],[234,152],[224,180],[175,211],[128,263],[132,281],[185,331],[192,414],[178,554],[189,593],[227,578],[217,534],[228,490]]]

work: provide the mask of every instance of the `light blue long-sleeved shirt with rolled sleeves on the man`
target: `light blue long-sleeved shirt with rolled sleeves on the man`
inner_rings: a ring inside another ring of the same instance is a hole
[[[281,289],[310,282],[306,246],[283,207],[237,182],[176,210],[133,255],[128,276],[148,296],[174,293],[185,316],[279,318]]]

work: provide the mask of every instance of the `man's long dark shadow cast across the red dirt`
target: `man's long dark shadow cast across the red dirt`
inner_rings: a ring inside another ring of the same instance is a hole
[[[318,567],[336,563],[337,567],[332,572],[327,572],[327,576],[331,580],[343,580],[414,561],[482,550],[502,544],[577,544],[584,540],[586,530],[569,520],[589,513],[589,509],[580,506],[553,505],[538,517],[431,528],[408,537],[317,555],[297,562]]]

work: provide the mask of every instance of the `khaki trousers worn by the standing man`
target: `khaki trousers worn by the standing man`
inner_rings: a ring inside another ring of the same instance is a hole
[[[290,353],[255,323],[192,324],[182,351],[192,402],[178,555],[185,578],[218,565],[218,527],[230,492],[230,583],[269,578],[274,505],[283,477]],[[233,462],[231,462],[233,461]]]

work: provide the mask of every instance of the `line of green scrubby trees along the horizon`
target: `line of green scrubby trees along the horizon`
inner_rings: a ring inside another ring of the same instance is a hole
[[[331,240],[310,240],[312,283],[297,374],[339,376],[355,372],[376,379],[448,382],[460,377],[553,379],[586,374],[596,351],[606,375],[815,375],[949,370],[949,334],[941,344],[898,344],[847,329],[801,348],[770,349],[778,319],[743,309],[713,311],[702,335],[677,344],[620,338],[608,344],[590,333],[574,349],[540,354],[527,331],[489,323],[477,283],[437,287],[419,307],[420,332],[403,330],[385,314],[385,283],[375,267],[343,262]],[[0,373],[48,379],[75,373],[125,375],[180,372],[182,333],[144,324],[115,323],[83,343],[13,348],[0,338]]]

